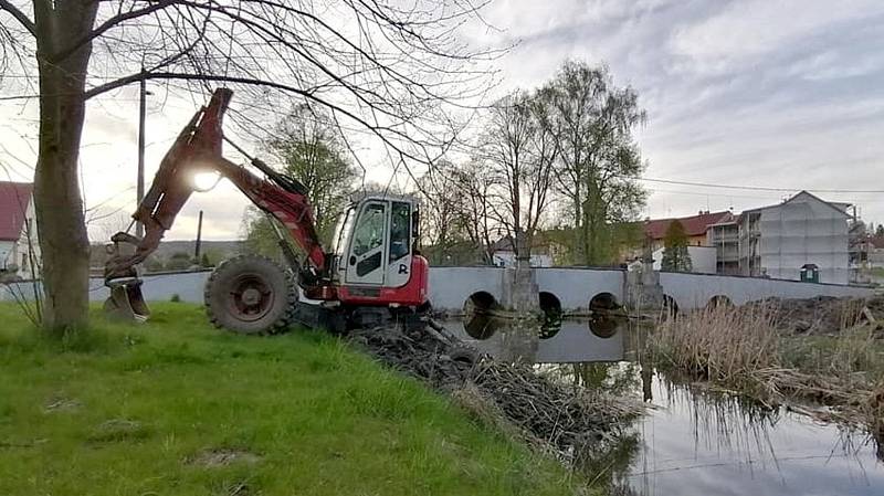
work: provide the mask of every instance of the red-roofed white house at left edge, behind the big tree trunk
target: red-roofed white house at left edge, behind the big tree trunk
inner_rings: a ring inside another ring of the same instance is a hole
[[[0,181],[0,278],[33,278],[40,260],[33,184]],[[30,241],[30,242],[29,242]]]

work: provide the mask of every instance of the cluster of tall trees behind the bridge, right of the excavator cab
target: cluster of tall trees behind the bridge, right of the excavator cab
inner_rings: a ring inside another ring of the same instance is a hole
[[[634,133],[646,114],[607,66],[566,62],[481,119],[469,157],[440,161],[418,184],[438,258],[467,245],[490,263],[488,247],[501,239],[527,256],[543,232],[565,250],[558,262],[607,265],[621,244],[641,242],[633,221],[646,200],[638,182],[645,162]]]

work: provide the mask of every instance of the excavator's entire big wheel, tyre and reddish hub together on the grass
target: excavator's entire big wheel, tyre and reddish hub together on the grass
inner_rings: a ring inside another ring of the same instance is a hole
[[[260,255],[225,260],[206,282],[206,313],[215,327],[241,334],[285,331],[294,319],[292,273]]]

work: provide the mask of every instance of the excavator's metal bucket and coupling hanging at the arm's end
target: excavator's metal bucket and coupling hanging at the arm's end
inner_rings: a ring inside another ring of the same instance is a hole
[[[117,233],[112,239],[113,244],[106,246],[110,260],[129,257],[135,254],[140,240],[128,233]],[[133,265],[124,277],[106,281],[110,296],[104,302],[105,314],[115,320],[143,323],[150,316],[150,309],[141,295],[143,281],[138,271]]]

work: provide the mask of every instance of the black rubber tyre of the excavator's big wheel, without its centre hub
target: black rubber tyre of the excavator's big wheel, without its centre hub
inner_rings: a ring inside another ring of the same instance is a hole
[[[265,310],[253,319],[240,318],[231,308],[233,288],[242,277],[261,281],[271,291]],[[297,296],[290,271],[265,256],[239,255],[221,262],[206,282],[206,313],[215,327],[234,333],[282,333],[294,319]]]

